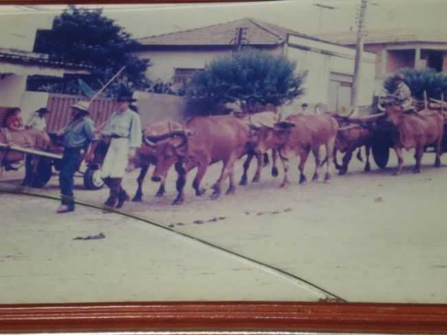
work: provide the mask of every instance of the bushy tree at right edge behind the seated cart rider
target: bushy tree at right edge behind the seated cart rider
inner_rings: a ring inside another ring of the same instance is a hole
[[[424,100],[424,91],[427,97],[441,99],[441,93],[447,98],[447,76],[434,69],[412,69],[402,68],[398,71],[405,76],[405,83],[411,91],[411,95],[417,100]],[[394,76],[386,78],[384,89],[388,93],[393,93],[396,89]]]

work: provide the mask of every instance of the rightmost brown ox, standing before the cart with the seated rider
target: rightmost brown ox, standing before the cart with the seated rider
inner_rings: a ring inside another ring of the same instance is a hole
[[[387,122],[393,124],[393,148],[397,155],[397,171],[402,173],[404,157],[402,149],[415,148],[416,164],[413,172],[419,173],[425,146],[435,146],[435,167],[441,166],[441,141],[444,135],[444,117],[438,111],[403,113],[401,106],[391,105],[385,109]]]

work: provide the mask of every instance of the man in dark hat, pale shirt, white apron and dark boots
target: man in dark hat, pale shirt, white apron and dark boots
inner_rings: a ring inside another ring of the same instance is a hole
[[[137,148],[142,144],[142,128],[140,116],[131,111],[129,105],[133,99],[131,93],[118,96],[118,111],[113,113],[105,124],[102,135],[110,137],[110,146],[102,164],[102,179],[110,189],[105,206],[121,208],[129,195],[122,188],[122,177],[127,162],[135,156]]]

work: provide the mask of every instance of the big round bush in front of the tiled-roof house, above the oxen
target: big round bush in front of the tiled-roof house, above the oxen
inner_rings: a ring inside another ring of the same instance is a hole
[[[296,62],[257,49],[215,58],[195,74],[186,95],[198,113],[218,113],[217,106],[238,104],[243,111],[280,106],[303,95],[307,71],[295,73]]]

